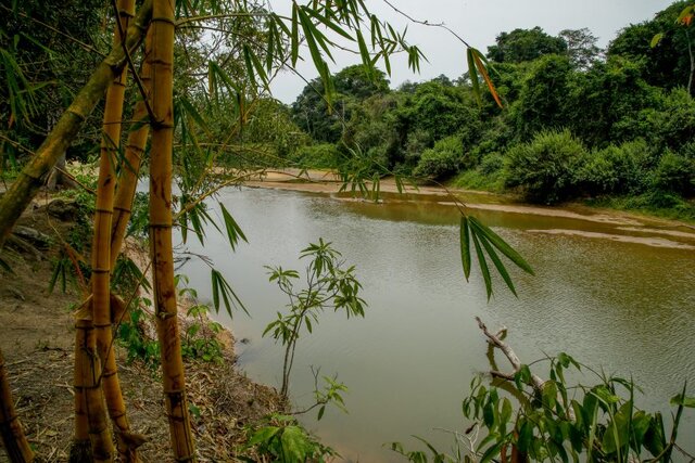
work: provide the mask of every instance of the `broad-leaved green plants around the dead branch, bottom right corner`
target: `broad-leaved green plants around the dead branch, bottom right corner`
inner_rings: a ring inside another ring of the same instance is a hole
[[[684,409],[695,408],[695,399],[685,396],[685,387],[671,399],[675,411],[672,423],[666,426],[660,412],[646,412],[636,406],[640,388],[631,380],[607,376],[564,352],[542,363],[548,364],[548,380],[541,380],[527,364],[519,365],[509,377],[493,380],[492,385],[476,376],[470,395],[463,401],[463,414],[472,425],[454,433],[451,453],[427,441],[429,452],[407,451],[400,442],[393,442],[391,449],[416,463],[430,459],[441,463],[622,463],[688,458],[687,453],[681,454],[677,443]],[[566,380],[584,372],[596,383]]]

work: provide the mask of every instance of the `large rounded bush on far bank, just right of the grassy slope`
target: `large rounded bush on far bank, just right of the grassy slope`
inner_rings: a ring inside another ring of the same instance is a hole
[[[520,188],[533,203],[557,203],[577,195],[586,157],[586,149],[569,130],[541,132],[507,152],[505,185]]]

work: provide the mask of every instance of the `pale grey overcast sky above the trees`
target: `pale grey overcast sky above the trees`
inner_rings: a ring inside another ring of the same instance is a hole
[[[494,43],[502,31],[515,28],[542,27],[549,35],[563,29],[587,27],[605,47],[616,33],[629,24],[641,23],[672,3],[670,0],[391,0],[408,15],[430,23],[445,23],[468,43],[483,53]],[[270,0],[276,12],[287,13],[289,0]],[[428,80],[441,74],[454,79],[466,70],[464,46],[447,31],[409,23],[395,13],[382,0],[366,0],[368,8],[379,17],[403,30],[408,26],[406,39],[417,44],[429,62],[422,62],[420,74],[407,67],[405,55],[392,60],[391,87],[405,80]],[[303,53],[308,55],[308,53]],[[329,66],[332,73],[359,62],[358,56],[337,52],[336,63]],[[298,63],[298,70],[307,79],[317,76],[311,59]],[[305,82],[286,72],[273,83],[273,94],[285,103],[291,103],[304,88]]]

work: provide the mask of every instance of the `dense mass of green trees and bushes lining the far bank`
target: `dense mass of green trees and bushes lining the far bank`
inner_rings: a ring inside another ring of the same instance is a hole
[[[302,166],[340,168],[356,150],[380,176],[692,218],[694,38],[679,20],[686,5],[626,27],[606,50],[587,29],[500,34],[486,57],[502,111],[486,90],[477,104],[468,73],[390,90],[383,76],[349,67],[337,75],[332,112],[314,81],[292,105],[295,124],[320,143]]]

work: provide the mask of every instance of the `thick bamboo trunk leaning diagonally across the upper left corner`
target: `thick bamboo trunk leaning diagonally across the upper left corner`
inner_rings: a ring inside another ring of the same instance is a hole
[[[142,40],[152,16],[152,0],[146,0],[136,21],[128,28],[126,48],[135,50]],[[0,198],[0,249],[10,235],[12,228],[29,205],[46,175],[53,168],[59,157],[65,153],[77,136],[83,123],[92,112],[104,91],[115,76],[126,65],[127,59],[123,47],[117,46],[101,62],[89,81],[83,87],[70,107],[63,113],[55,127],[27,164],[17,180]]]

